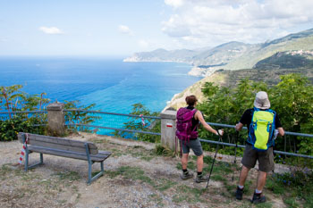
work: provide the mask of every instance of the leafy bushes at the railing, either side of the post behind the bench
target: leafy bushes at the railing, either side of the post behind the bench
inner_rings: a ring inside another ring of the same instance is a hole
[[[0,120],[0,141],[12,141],[17,139],[18,132],[29,132],[34,134],[52,134],[47,132],[47,114],[46,113],[28,113],[27,111],[42,111],[50,102],[44,98],[46,93],[40,95],[29,95],[21,91],[21,85],[9,87],[0,86],[0,111],[8,112],[8,116],[3,116]],[[65,101],[64,109],[90,110],[95,104],[89,106],[81,105],[79,101]],[[13,113],[25,111],[25,113]],[[0,118],[1,118],[0,117]],[[65,112],[65,121],[68,124],[89,124],[100,119],[99,116],[89,115],[87,112]],[[39,126],[34,126],[39,125]],[[69,131],[89,131],[82,126],[69,126]],[[55,135],[57,136],[57,135]]]

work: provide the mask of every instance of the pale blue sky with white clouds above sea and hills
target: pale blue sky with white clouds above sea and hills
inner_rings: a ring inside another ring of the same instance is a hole
[[[129,56],[313,28],[312,0],[0,0],[0,55]]]

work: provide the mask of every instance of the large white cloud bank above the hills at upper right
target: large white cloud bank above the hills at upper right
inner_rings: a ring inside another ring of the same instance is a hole
[[[165,0],[165,4],[173,7],[173,13],[162,22],[162,30],[187,46],[233,40],[258,43],[301,25],[313,28],[312,0]]]

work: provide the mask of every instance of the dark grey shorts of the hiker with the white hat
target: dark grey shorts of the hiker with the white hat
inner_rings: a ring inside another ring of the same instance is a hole
[[[250,144],[246,145],[241,163],[247,168],[254,168],[258,161],[258,171],[274,171],[273,146],[268,147],[264,152],[259,152],[252,148]]]

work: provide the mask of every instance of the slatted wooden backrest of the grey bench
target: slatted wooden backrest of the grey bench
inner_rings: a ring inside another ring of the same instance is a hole
[[[18,134],[19,141],[23,143],[24,136],[26,133],[20,132]],[[86,154],[86,147],[85,144],[88,143],[89,145],[89,154],[97,154],[97,146],[95,146],[91,142],[82,142],[77,141],[69,138],[63,137],[48,137],[43,135],[37,134],[28,134],[28,145],[30,146],[42,146],[52,149],[59,149],[65,151],[71,151],[75,153],[82,153]]]

